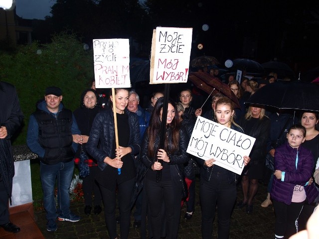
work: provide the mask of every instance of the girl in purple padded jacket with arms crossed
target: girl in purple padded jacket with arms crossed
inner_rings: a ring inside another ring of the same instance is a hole
[[[312,203],[318,192],[312,184],[313,154],[301,146],[306,128],[291,126],[287,143],[275,152],[275,177],[271,197],[276,214],[275,239],[289,238],[298,232],[298,218],[305,201]]]

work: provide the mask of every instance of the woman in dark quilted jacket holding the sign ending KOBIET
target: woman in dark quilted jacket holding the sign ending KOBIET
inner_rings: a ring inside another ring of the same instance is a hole
[[[112,96],[110,97],[113,101]],[[115,109],[99,113],[92,124],[87,152],[97,160],[98,182],[104,203],[105,222],[111,239],[117,239],[115,207],[116,188],[121,214],[121,239],[127,239],[130,228],[131,196],[135,184],[135,154],[140,152],[140,124],[138,116],[129,112],[127,89],[115,89]],[[113,111],[116,111],[119,147],[115,143]],[[121,174],[118,174],[118,169]]]

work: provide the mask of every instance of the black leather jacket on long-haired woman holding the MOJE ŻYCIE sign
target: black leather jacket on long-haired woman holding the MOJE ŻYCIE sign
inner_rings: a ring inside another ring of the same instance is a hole
[[[171,129],[167,128],[167,137],[169,139],[168,141],[168,147],[170,148],[171,144]],[[188,146],[188,136],[185,131],[184,127],[181,127],[179,129],[179,149],[177,152],[172,152],[171,149],[170,151],[170,162],[168,165],[171,168],[170,173],[171,173],[171,178],[174,182],[179,182],[180,176],[183,174],[183,164],[187,162],[188,157],[187,157],[187,146]],[[156,149],[155,152],[158,151],[159,148],[159,142],[160,142],[160,134],[157,134],[157,138],[154,144],[154,148]],[[141,159],[142,162],[146,165],[147,168],[152,170],[152,165],[154,164],[156,157],[155,155],[150,157],[148,154],[148,146],[149,146],[149,135],[146,132],[144,135],[143,143],[142,143],[142,148],[141,148]]]

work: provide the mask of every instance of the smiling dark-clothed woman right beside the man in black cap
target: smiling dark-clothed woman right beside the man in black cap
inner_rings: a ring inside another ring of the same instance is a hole
[[[85,90],[81,95],[80,108],[76,109],[73,114],[76,119],[76,122],[81,131],[81,146],[78,147],[78,150],[75,153],[74,162],[78,164],[80,162],[80,153],[81,149],[87,154],[88,160],[85,161],[89,165],[90,174],[83,178],[83,193],[84,193],[84,202],[85,208],[84,213],[89,215],[92,210],[92,192],[94,194],[94,214],[98,215],[101,213],[101,202],[102,196],[99,185],[95,181],[95,176],[98,171],[97,163],[92,158],[91,155],[88,155],[86,152],[86,143],[88,142],[91,127],[95,116],[102,110],[101,107],[97,106],[98,94],[93,89]]]

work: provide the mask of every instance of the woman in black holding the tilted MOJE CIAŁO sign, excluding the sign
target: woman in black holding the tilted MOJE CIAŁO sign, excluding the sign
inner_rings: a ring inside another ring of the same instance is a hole
[[[234,122],[232,101],[223,97],[216,102],[215,120],[226,127],[243,133]],[[245,165],[250,157],[244,156]],[[215,159],[195,158],[200,167],[200,203],[202,209],[201,233],[203,239],[212,238],[213,220],[218,204],[218,239],[228,239],[231,213],[236,201],[236,183],[238,174],[214,165]]]

